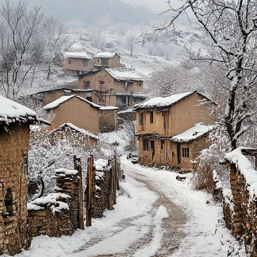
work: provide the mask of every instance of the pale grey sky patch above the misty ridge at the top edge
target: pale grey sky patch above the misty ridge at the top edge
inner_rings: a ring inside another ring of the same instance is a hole
[[[169,9],[168,0],[120,0],[120,2],[130,4],[133,7],[145,5],[156,13],[161,13]],[[179,7],[181,5],[181,2],[177,0],[172,0],[171,3],[173,3],[172,7]]]

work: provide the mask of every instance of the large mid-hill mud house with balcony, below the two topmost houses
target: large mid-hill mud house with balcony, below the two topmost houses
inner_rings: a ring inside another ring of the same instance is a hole
[[[100,105],[133,106],[144,100],[143,79],[134,72],[101,68],[79,75],[78,84],[80,89],[94,89]]]

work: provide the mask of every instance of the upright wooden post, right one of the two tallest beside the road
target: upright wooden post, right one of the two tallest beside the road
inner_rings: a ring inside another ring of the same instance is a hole
[[[92,225],[92,207],[91,207],[91,186],[92,186],[92,157],[87,159],[86,175],[86,227]]]

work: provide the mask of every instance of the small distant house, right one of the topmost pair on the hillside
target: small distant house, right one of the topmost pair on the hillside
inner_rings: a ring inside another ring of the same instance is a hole
[[[110,68],[120,67],[120,56],[116,52],[97,52],[94,58],[96,62],[96,68],[102,66]]]

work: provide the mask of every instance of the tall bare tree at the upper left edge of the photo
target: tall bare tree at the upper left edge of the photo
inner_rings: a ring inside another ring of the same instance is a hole
[[[36,41],[42,21],[41,7],[29,10],[23,0],[16,4],[6,0],[0,8],[0,83],[8,98],[15,99],[28,85],[43,58],[42,46]]]

